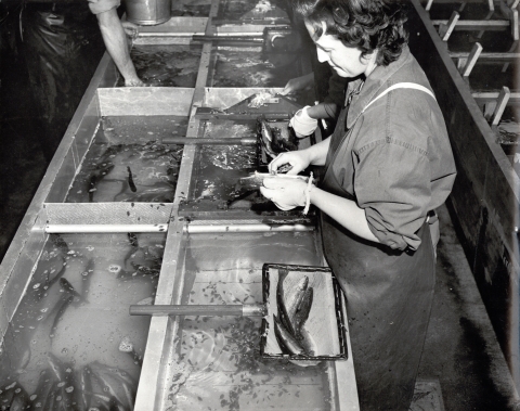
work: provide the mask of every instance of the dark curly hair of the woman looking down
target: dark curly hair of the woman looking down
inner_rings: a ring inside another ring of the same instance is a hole
[[[322,36],[336,36],[347,47],[355,47],[362,56],[378,49],[376,63],[388,65],[399,59],[408,42],[404,28],[406,12],[399,0],[291,0],[296,13]]]

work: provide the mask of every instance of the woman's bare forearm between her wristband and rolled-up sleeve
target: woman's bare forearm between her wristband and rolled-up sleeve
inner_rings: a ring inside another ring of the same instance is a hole
[[[365,210],[360,208],[355,202],[313,188],[311,190],[311,204],[314,204],[355,235],[379,243],[379,240],[368,228]]]

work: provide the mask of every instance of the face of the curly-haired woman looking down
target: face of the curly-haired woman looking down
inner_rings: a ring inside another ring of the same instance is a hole
[[[306,22],[309,35],[314,40],[317,49],[317,60],[327,62],[340,77],[358,77],[364,74],[366,77],[375,68],[376,53],[361,57],[361,50],[344,46],[341,40],[326,33],[326,25],[323,25],[323,35],[316,38],[314,27]]]

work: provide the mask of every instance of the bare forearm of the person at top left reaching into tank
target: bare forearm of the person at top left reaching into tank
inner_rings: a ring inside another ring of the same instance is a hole
[[[96,16],[106,51],[110,54],[122,77],[125,77],[125,84],[127,86],[140,84],[141,80],[130,59],[127,36],[116,9],[102,12],[96,14]]]

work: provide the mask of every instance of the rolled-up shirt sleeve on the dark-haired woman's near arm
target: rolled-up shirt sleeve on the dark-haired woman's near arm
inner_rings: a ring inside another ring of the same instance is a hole
[[[356,201],[365,209],[370,231],[391,248],[417,249],[420,239],[416,233],[431,203],[426,151],[387,137],[360,150],[358,162]]]

